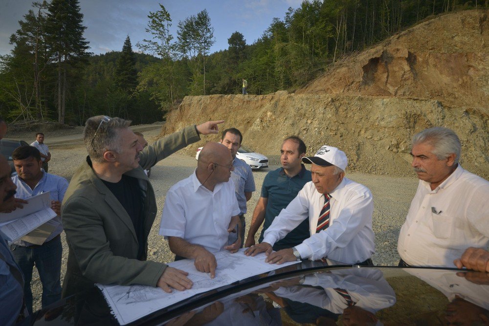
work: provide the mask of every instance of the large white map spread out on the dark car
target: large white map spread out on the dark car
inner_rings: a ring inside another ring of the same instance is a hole
[[[235,254],[221,251],[214,255],[217,260],[216,277],[214,279],[211,279],[208,273],[197,271],[194,266],[194,260],[191,259],[174,261],[168,264],[189,273],[188,278],[194,283],[189,290],[173,290],[172,293],[166,293],[159,287],[145,285],[97,284],[97,286],[102,290],[117,321],[121,325],[125,325],[196,294],[298,262],[290,261],[281,265],[269,264],[265,262],[266,256],[264,253],[250,257],[244,255],[244,249],[240,249]]]

